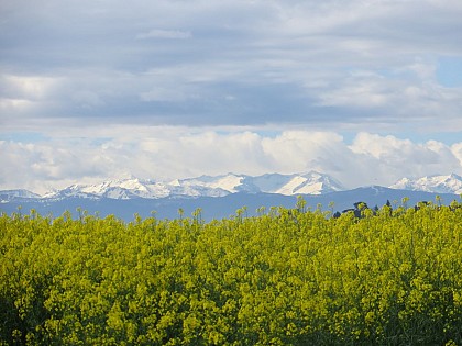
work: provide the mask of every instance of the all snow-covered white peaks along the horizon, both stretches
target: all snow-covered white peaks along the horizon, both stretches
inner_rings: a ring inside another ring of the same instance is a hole
[[[462,193],[462,178],[459,175],[433,175],[417,179],[403,178],[389,186],[391,189],[433,192]],[[317,171],[305,174],[264,174],[261,176],[229,172],[219,176],[175,179],[168,182],[152,179],[128,178],[108,180],[97,185],[72,185],[67,188],[43,196],[25,189],[0,191],[0,201],[6,203],[14,199],[59,200],[67,198],[87,199],[163,199],[224,197],[232,193],[275,193],[283,196],[327,194],[351,189],[333,177]]]

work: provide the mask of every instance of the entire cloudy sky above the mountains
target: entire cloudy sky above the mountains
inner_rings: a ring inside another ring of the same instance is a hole
[[[462,175],[460,0],[0,0],[0,189]]]

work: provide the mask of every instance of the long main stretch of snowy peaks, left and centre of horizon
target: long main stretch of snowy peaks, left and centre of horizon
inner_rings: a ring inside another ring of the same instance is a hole
[[[328,175],[316,171],[299,175],[263,175],[257,177],[228,174],[210,177],[176,179],[156,182],[136,178],[105,181],[99,185],[73,185],[66,189],[46,193],[43,198],[63,199],[110,198],[158,199],[165,197],[223,197],[237,192],[293,194],[322,194],[344,190],[342,185]]]

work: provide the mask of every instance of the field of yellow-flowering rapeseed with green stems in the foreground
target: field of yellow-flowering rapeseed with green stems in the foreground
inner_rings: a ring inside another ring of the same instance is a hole
[[[404,201],[405,203],[406,201]],[[462,345],[462,204],[0,217],[0,345]]]

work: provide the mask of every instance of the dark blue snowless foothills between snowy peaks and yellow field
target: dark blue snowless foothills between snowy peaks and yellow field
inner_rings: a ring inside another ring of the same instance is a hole
[[[443,204],[459,200],[459,197],[451,193],[432,193],[422,191],[409,191],[388,189],[384,187],[366,187],[354,190],[337,191],[324,194],[305,194],[307,208],[315,210],[321,205],[322,210],[332,210],[342,212],[345,209],[353,208],[355,202],[365,202],[370,208],[382,207],[387,200],[392,205],[399,205],[404,198],[408,198],[407,205],[411,207],[420,201],[436,201],[439,194]],[[202,217],[207,221],[212,219],[223,219],[235,215],[235,211],[246,207],[246,215],[257,214],[257,209],[264,207],[266,212],[271,208],[295,208],[297,203],[296,196],[286,196],[279,193],[248,193],[235,192],[222,197],[165,197],[158,199],[113,199],[107,197],[100,198],[79,198],[68,197],[64,199],[14,199],[0,203],[0,211],[13,213],[21,205],[21,212],[28,214],[31,209],[36,210],[42,215],[52,214],[59,216],[65,211],[73,213],[78,217],[77,209],[87,211],[89,214],[98,213],[100,216],[113,214],[117,217],[128,222],[133,220],[135,213],[142,217],[151,216],[153,213],[157,219],[178,217],[178,210],[184,210],[185,216],[190,216],[197,210],[202,210]],[[330,207],[333,203],[333,207]]]

